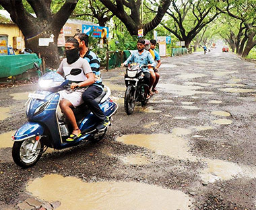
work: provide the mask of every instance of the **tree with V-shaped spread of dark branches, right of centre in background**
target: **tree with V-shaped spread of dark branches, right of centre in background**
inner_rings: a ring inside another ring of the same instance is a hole
[[[166,11],[170,18],[162,26],[189,47],[193,38],[221,13],[216,4],[214,0],[171,0],[172,7]]]

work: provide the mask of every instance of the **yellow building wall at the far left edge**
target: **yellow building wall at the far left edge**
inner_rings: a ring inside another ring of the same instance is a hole
[[[8,35],[8,46],[13,47],[13,37],[22,37],[22,49],[25,48],[24,36],[22,31],[15,24],[0,24],[0,35]]]

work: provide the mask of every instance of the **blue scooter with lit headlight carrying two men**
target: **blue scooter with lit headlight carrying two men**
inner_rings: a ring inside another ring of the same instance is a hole
[[[39,69],[36,64],[34,67]],[[81,69],[72,69],[70,74],[77,75],[79,73],[81,73]],[[104,137],[107,127],[104,131],[96,130],[96,117],[86,104],[82,104],[73,109],[82,136],[75,141],[65,141],[69,137],[72,127],[61,112],[58,92],[69,88],[70,83],[71,81],[59,73],[51,71],[39,79],[40,89],[29,94],[26,103],[28,122],[22,125],[12,137],[14,141],[12,157],[18,166],[22,168],[34,166],[48,147],[64,149],[73,147],[82,141],[100,141]],[[103,91],[95,100],[111,120],[111,116],[117,112],[118,105],[109,98],[110,89],[106,86],[104,89],[106,91]]]

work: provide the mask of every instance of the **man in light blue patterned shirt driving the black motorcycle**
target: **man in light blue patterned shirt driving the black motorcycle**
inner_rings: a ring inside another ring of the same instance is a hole
[[[155,62],[147,50],[144,50],[145,48],[145,40],[143,38],[140,38],[137,40],[137,51],[133,52],[129,58],[122,64],[128,65],[130,63],[138,63],[140,65],[148,65],[148,67],[155,67]],[[150,70],[147,67],[143,67],[142,69],[144,74],[144,79],[148,87],[146,88],[146,92],[148,93],[148,98],[150,98],[150,88],[152,87],[153,83],[150,79]]]

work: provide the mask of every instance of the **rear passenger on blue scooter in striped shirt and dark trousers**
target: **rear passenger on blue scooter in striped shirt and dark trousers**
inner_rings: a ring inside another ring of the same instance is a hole
[[[89,36],[85,33],[77,33],[74,38],[79,42],[80,57],[86,59],[94,73],[95,83],[90,85],[82,95],[84,102],[88,105],[92,113],[98,118],[96,129],[103,131],[110,124],[108,116],[100,109],[98,103],[94,100],[103,92],[104,85],[100,75],[100,60],[92,50],[88,48]]]

